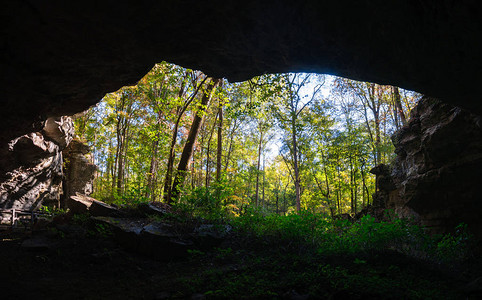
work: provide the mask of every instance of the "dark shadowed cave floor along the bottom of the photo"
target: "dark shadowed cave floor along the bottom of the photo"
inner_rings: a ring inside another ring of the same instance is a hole
[[[30,247],[30,232],[0,237],[2,299],[465,299],[473,275],[396,252],[323,256],[239,235],[177,260],[107,236],[56,232]]]

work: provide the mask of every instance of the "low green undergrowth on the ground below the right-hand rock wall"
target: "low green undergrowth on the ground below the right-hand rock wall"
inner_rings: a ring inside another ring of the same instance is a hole
[[[322,255],[360,254],[387,249],[435,262],[454,262],[470,255],[471,235],[467,226],[457,226],[455,234],[431,237],[409,220],[392,218],[377,221],[366,215],[359,221],[331,220],[325,215],[302,211],[300,214],[264,215],[247,209],[231,224],[240,232],[273,238],[290,245],[310,245]]]

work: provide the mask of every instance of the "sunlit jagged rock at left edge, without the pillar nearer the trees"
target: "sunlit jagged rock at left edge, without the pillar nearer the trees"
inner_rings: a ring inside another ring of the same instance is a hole
[[[32,210],[42,203],[59,207],[62,194],[62,150],[74,135],[71,118],[50,118],[41,131],[16,138],[2,149],[0,208]]]

